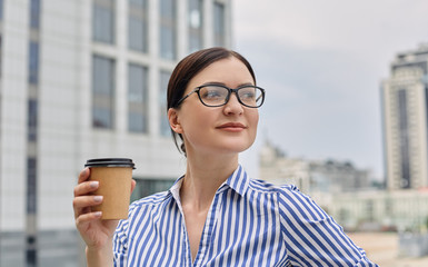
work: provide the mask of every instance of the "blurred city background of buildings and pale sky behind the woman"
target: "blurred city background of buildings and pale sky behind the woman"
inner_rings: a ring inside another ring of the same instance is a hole
[[[136,162],[132,200],[186,167],[166,89],[201,48],[267,90],[253,178],[295,184],[380,266],[428,265],[425,0],[0,0],[0,266],[84,266],[72,189]]]

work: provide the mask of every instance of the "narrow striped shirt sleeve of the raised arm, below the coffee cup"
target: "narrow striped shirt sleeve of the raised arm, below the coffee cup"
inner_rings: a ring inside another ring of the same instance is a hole
[[[120,220],[113,236],[115,267],[125,267],[128,264],[128,220]]]

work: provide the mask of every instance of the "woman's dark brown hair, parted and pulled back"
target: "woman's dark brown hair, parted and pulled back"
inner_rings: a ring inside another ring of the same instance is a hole
[[[209,65],[216,61],[231,57],[237,58],[247,67],[248,71],[250,71],[250,75],[256,82],[256,75],[252,70],[251,65],[240,53],[221,47],[202,49],[183,58],[172,71],[171,78],[168,82],[167,110],[170,108],[179,108],[178,101],[183,97],[189,81],[197,73],[199,73],[201,70],[203,70]],[[171,134],[178,150],[181,150],[186,156],[186,147],[182,136],[180,134],[175,132],[172,129]],[[181,139],[181,146],[178,146],[177,136],[179,136]]]

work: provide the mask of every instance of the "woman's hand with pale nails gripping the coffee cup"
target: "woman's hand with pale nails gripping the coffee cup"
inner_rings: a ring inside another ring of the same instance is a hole
[[[89,181],[90,169],[83,169],[74,187],[76,227],[87,244],[87,250],[104,250],[112,248],[112,237],[119,220],[101,220],[101,211],[91,211],[92,206],[102,202],[102,196],[92,195],[98,189],[98,181]],[[132,180],[131,191],[136,187]]]

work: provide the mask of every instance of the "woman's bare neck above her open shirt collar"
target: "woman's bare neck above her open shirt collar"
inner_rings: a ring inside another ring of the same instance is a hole
[[[209,208],[217,189],[238,167],[238,155],[221,157],[189,157],[180,198],[193,209]]]

